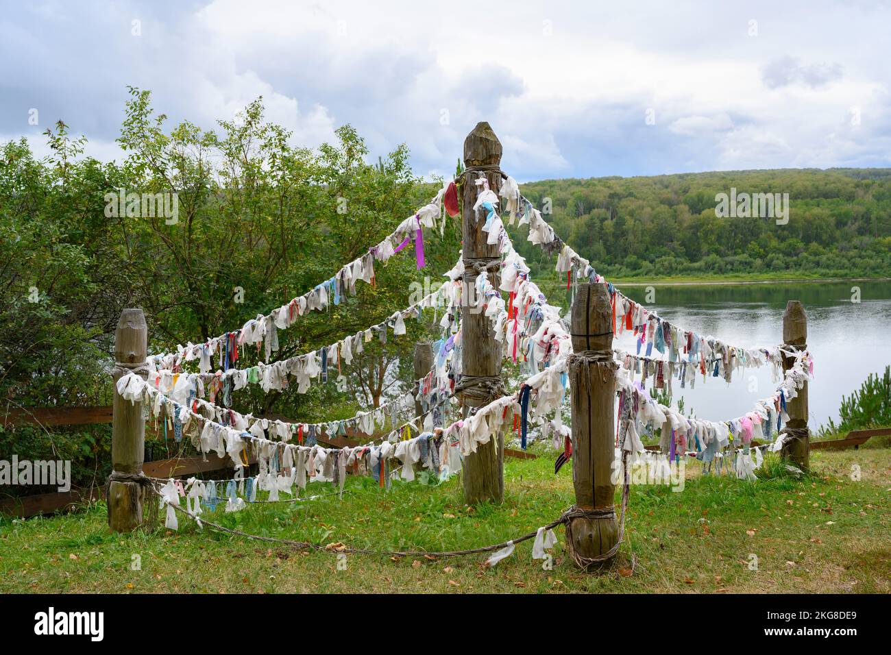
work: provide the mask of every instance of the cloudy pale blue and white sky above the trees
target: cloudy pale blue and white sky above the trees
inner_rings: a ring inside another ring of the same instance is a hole
[[[4,3],[0,139],[64,119],[120,160],[133,85],[171,127],[262,95],[295,143],[350,123],[419,175],[479,120],[520,181],[891,166],[889,31],[882,0]]]

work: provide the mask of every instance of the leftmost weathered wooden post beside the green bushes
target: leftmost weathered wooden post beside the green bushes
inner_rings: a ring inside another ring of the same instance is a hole
[[[145,422],[143,404],[131,404],[118,393],[119,379],[127,373],[148,376],[145,353],[148,327],[142,309],[125,309],[120,314],[114,334],[117,362],[114,381],[113,415],[111,419],[111,476],[108,486],[109,527],[115,532],[128,532],[143,522],[143,491],[139,481],[143,473]]]

